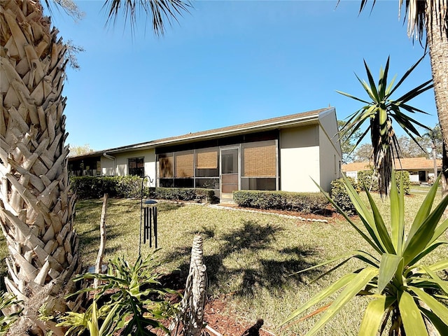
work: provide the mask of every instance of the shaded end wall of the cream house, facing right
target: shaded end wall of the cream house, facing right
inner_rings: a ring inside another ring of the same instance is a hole
[[[322,113],[320,116],[321,127],[319,129],[319,164],[320,186],[325,191],[330,191],[331,181],[339,178],[342,153],[337,134],[337,120],[335,111]]]

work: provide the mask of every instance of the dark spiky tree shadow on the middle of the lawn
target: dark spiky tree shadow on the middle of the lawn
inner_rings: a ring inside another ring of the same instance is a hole
[[[275,244],[275,234],[283,230],[276,225],[259,225],[246,221],[242,228],[226,232],[224,235],[209,228],[197,230],[204,238],[222,241],[218,253],[204,255],[207,266],[209,286],[223,286],[231,283],[232,293],[235,295],[252,295],[258,288],[283,288],[304,282],[304,276],[312,276],[316,271],[304,272],[302,275],[291,274],[313,266],[306,257],[317,253],[313,248],[281,248]],[[206,249],[207,250],[207,249]],[[170,258],[187,257],[191,248],[179,248]],[[248,253],[250,261],[245,260]],[[271,257],[272,255],[272,257]],[[186,258],[189,260],[189,258]],[[189,263],[179,267],[181,281],[188,276]],[[236,290],[235,290],[236,288]]]

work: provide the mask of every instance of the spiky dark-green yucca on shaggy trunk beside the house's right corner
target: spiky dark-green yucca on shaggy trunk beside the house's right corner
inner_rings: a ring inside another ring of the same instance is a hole
[[[424,56],[423,56],[424,57]],[[340,138],[350,138],[356,132],[359,132],[360,127],[369,122],[368,126],[358,138],[356,146],[363,141],[364,137],[370,131],[370,139],[373,147],[373,165],[374,169],[379,175],[379,190],[380,193],[388,194],[388,186],[391,184],[391,174],[393,169],[393,159],[399,158],[400,146],[398,145],[395,130],[393,130],[392,122],[395,120],[400,127],[409,135],[409,137],[416,141],[416,137],[420,137],[419,131],[416,126],[423,127],[428,130],[426,125],[419,123],[414,118],[411,118],[408,113],[425,113],[421,109],[417,109],[414,106],[410,106],[408,102],[418,96],[419,94],[429,90],[433,87],[432,80],[428,80],[425,83],[414,87],[414,89],[403,94],[401,97],[394,98],[393,94],[402,85],[405,79],[414,71],[416,66],[423,59],[419,59],[409,70],[398,80],[398,83],[394,85],[396,76],[393,77],[391,83],[387,83],[388,70],[389,70],[389,57],[387,58],[386,67],[379,70],[378,85],[375,84],[372,72],[364,61],[365,71],[367,73],[368,83],[365,80],[361,80],[358,75],[359,83],[363,86],[365,92],[371,101],[354,97],[351,94],[336,91],[351,99],[355,99],[358,102],[365,104],[358,111],[349,116],[342,130],[339,132]],[[420,145],[419,145],[420,146]]]

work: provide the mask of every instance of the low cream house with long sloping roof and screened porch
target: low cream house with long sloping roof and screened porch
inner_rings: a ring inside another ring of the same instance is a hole
[[[152,186],[318,192],[339,177],[335,108],[255,121],[69,158],[72,175],[150,176]]]

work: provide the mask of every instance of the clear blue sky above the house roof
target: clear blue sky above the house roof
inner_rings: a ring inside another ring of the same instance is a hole
[[[76,3],[83,20],[54,11],[52,23],[85,49],[81,69],[66,71],[66,130],[71,146],[94,150],[329,104],[344,119],[360,104],[335,90],[365,97],[354,75],[367,79],[363,59],[377,77],[390,55],[400,76],[423,55],[398,19],[398,0],[359,16],[360,1],[193,1],[161,38],[143,16],[132,36],[123,20],[104,27],[103,1]],[[428,79],[427,56],[401,93]],[[413,105],[430,113],[417,120],[437,123],[432,90]]]

